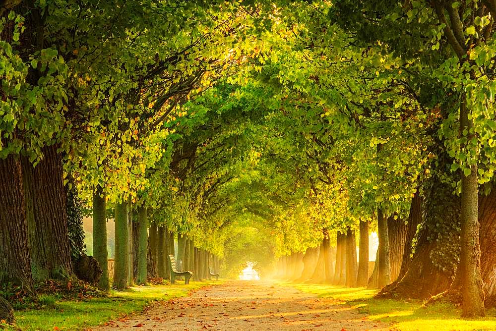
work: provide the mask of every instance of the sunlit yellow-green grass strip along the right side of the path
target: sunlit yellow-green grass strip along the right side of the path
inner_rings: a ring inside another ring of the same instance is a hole
[[[425,307],[418,300],[374,299],[375,290],[346,288],[320,284],[282,283],[321,298],[333,298],[358,308],[368,319],[391,325],[401,331],[496,330],[496,310],[487,311],[485,318],[460,318],[461,309],[447,303]]]

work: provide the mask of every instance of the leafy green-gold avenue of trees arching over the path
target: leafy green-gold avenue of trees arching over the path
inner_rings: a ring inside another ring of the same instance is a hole
[[[75,277],[86,213],[104,290],[176,241],[195,279],[495,306],[495,1],[0,4],[0,282]]]

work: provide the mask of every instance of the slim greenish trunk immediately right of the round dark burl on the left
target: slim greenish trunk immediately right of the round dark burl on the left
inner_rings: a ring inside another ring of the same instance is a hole
[[[98,288],[110,289],[107,251],[107,204],[102,187],[96,187],[93,192],[93,257],[102,269]]]

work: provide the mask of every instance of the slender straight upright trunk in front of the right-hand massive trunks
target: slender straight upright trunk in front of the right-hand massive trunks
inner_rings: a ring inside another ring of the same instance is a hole
[[[471,130],[474,120],[469,118],[465,95],[460,104],[460,132]],[[470,141],[474,133],[468,133]],[[462,146],[467,147],[467,146]],[[472,148],[473,150],[474,148]],[[475,147],[477,152],[477,147]],[[481,271],[481,247],[479,242],[478,179],[477,163],[470,167],[470,174],[461,171],[461,252],[462,316],[485,316],[484,291]]]

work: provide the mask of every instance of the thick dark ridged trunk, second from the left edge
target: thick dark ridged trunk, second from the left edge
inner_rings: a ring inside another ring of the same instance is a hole
[[[35,229],[31,246],[31,270],[35,281],[68,277],[72,274],[67,206],[63,185],[62,156],[57,145],[44,147],[43,160],[34,168],[23,163],[23,172],[31,180],[30,195]],[[28,197],[28,196],[26,196]]]

